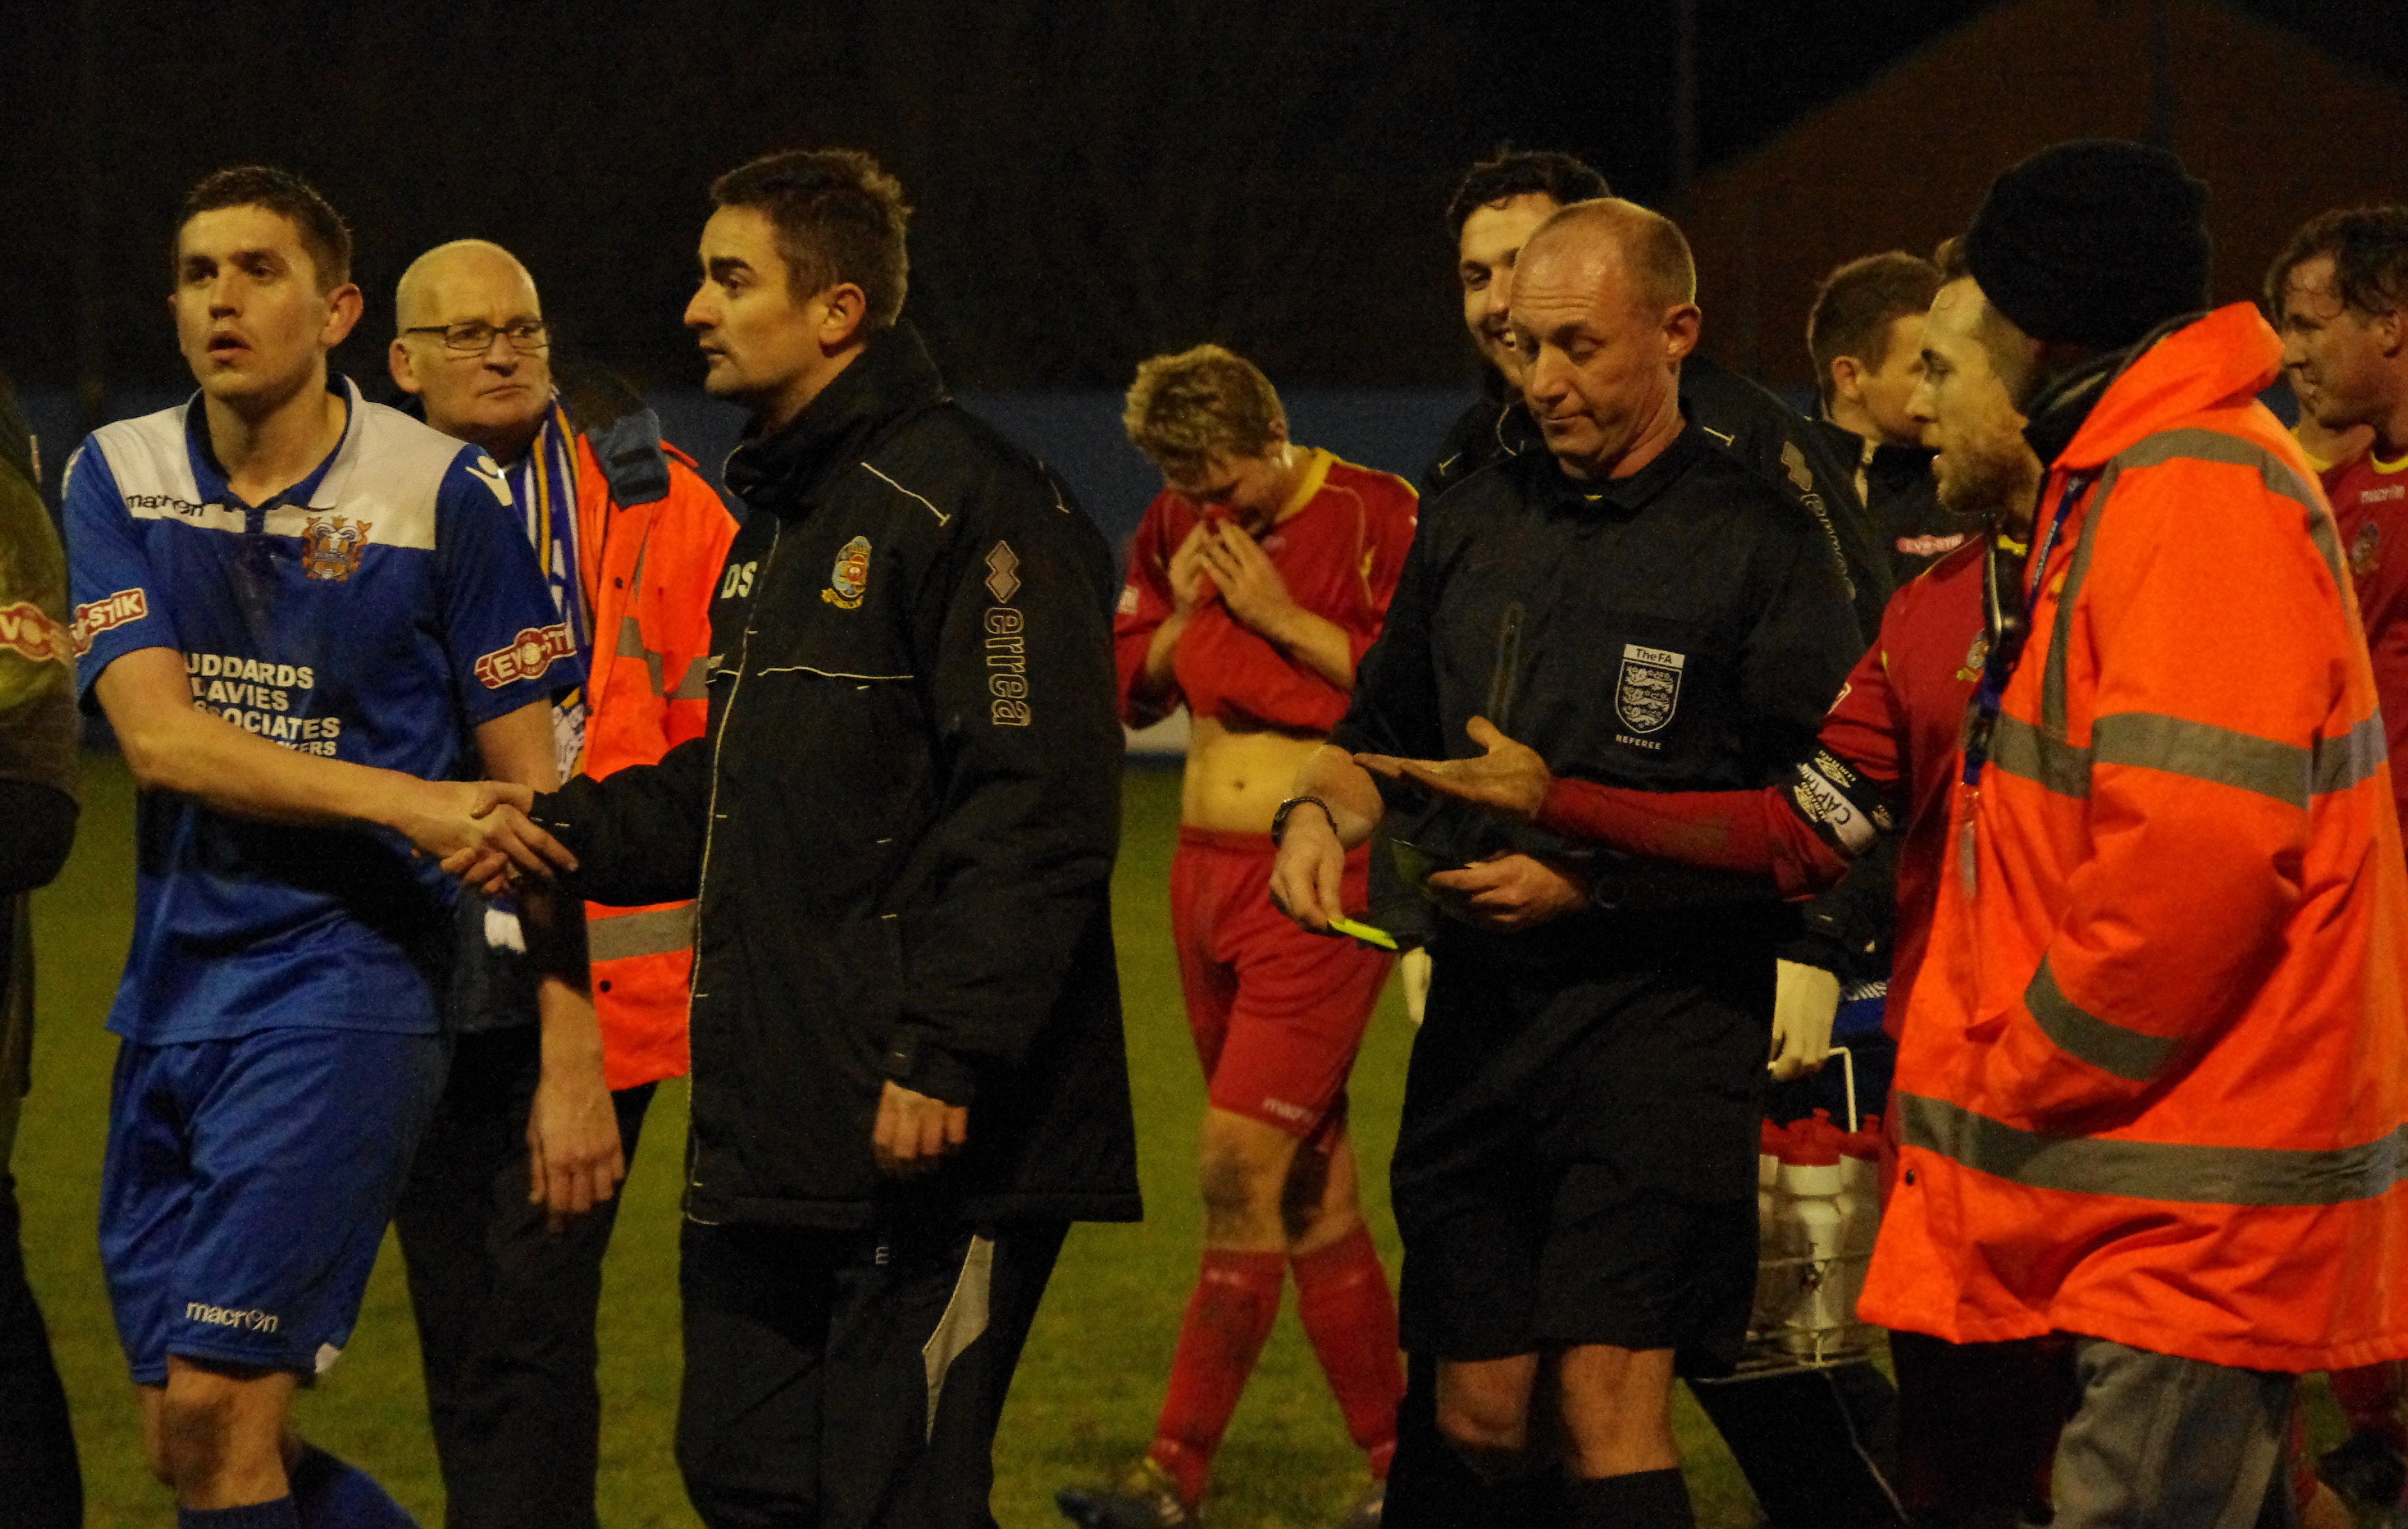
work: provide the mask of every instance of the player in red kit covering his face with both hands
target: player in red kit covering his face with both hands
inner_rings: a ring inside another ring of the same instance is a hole
[[[1187,1023],[1211,1084],[1199,1139],[1204,1269],[1144,1462],[1060,1493],[1091,1529],[1194,1519],[1286,1271],[1298,1315],[1370,1459],[1348,1524],[1377,1524],[1397,1447],[1397,1307],[1356,1199],[1346,1074],[1389,956],[1305,934],[1269,901],[1274,811],[1300,756],[1346,713],[1387,614],[1416,498],[1401,479],[1288,441],[1269,378],[1197,347],[1137,368],[1129,441],[1163,491],[1129,549],[1112,624],[1132,725],[1187,706],[1194,732],[1170,862]],[[1365,903],[1368,852],[1346,864]]]

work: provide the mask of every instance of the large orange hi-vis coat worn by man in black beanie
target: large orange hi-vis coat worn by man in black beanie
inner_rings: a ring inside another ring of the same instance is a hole
[[[1958,787],[1861,1315],[2223,1365],[2408,1353],[2408,872],[2333,520],[2247,303],[2049,470],[2032,636]],[[2088,484],[2088,489],[2081,489]]]

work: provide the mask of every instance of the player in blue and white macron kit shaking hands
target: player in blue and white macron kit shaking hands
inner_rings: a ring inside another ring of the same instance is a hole
[[[140,785],[101,1257],[183,1529],[409,1522],[289,1406],[443,1081],[436,862],[539,864],[455,778],[551,785],[580,679],[491,457],[330,378],[349,255],[287,171],[195,185],[169,306],[200,392],[96,431],[65,486],[77,684]],[[576,903],[530,915],[580,982]],[[549,1009],[530,1134],[576,1214],[624,1165],[592,1009]]]

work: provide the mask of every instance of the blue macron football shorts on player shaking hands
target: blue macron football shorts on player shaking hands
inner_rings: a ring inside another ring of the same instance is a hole
[[[135,1385],[171,1353],[342,1356],[445,1057],[441,1035],[315,1028],[118,1045],[101,1269]]]

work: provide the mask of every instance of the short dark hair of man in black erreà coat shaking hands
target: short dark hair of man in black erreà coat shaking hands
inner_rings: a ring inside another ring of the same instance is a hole
[[[903,183],[860,149],[780,149],[710,183],[718,207],[751,207],[778,226],[787,289],[797,299],[838,282],[862,289],[867,330],[893,327],[910,287]]]

